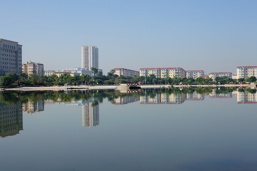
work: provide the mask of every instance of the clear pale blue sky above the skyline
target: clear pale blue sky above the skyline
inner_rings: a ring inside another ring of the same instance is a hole
[[[99,48],[99,69],[181,67],[236,73],[257,66],[256,0],[1,1],[0,38],[23,45],[22,63],[81,67],[81,46]]]

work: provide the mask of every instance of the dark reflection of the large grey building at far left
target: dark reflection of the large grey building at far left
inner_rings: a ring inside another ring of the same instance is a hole
[[[23,130],[22,105],[0,102],[0,138],[19,134]]]

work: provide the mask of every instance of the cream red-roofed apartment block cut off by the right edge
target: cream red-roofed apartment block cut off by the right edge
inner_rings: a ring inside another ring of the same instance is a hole
[[[236,67],[236,74],[238,78],[250,78],[251,76],[257,76],[257,66],[238,66]]]

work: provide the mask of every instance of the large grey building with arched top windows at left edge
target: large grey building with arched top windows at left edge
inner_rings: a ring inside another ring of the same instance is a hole
[[[0,75],[14,71],[21,72],[22,45],[18,43],[0,38]]]

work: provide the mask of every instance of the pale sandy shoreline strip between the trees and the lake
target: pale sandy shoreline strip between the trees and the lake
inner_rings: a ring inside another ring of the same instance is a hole
[[[39,87],[15,87],[15,88],[5,88],[5,91],[57,91],[57,90],[67,90],[68,88],[72,88],[73,90],[86,90],[86,89],[115,89],[119,85],[95,85],[95,86],[39,86]],[[140,85],[141,88],[168,88],[172,87],[172,85]],[[248,84],[225,84],[225,85],[177,85],[173,87],[255,87],[255,85],[248,85]]]

